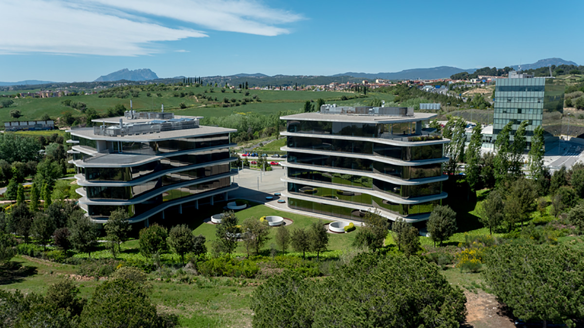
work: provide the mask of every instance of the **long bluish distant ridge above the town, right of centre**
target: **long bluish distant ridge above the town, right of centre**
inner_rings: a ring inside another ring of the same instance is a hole
[[[440,79],[447,78],[450,75],[454,75],[460,72],[474,72],[474,69],[462,69],[450,66],[440,66],[432,68],[413,68],[404,69],[404,71],[399,72],[389,72],[389,73],[356,73],[356,72],[346,72],[342,74],[335,74],[332,76],[343,76],[349,75],[356,78],[365,79],[388,79],[388,80],[415,80],[415,79]]]

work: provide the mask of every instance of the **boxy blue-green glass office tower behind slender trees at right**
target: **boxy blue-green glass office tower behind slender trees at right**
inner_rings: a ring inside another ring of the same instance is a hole
[[[508,79],[497,79],[493,142],[509,121],[513,121],[512,134],[515,134],[519,124],[527,120],[527,148],[538,125],[544,128],[545,149],[557,146],[564,113],[564,88],[564,84],[557,79],[534,78],[533,75],[515,71],[509,72]]]

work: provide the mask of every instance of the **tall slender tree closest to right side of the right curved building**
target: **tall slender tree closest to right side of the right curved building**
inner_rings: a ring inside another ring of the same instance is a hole
[[[456,172],[458,163],[464,160],[464,145],[467,141],[465,127],[466,123],[462,118],[450,117],[442,130],[444,138],[450,139],[449,144],[444,146],[444,154],[449,158],[446,163],[446,172],[450,175]]]

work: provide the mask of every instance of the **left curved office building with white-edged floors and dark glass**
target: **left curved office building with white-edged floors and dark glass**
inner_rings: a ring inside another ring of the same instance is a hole
[[[98,126],[69,130],[79,206],[94,222],[124,208],[130,222],[173,208],[227,200],[231,183],[230,133],[199,125],[201,117],[135,113],[93,120]]]

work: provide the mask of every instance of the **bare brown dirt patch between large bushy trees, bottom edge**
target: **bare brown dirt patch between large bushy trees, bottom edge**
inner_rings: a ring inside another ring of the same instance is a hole
[[[514,328],[513,320],[504,314],[503,305],[495,295],[478,290],[477,294],[464,291],[467,297],[467,320],[465,324],[471,327]],[[463,324],[464,326],[464,324]]]

